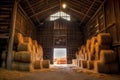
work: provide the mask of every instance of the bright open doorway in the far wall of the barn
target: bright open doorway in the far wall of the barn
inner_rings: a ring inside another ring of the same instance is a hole
[[[54,48],[53,63],[55,65],[67,64],[67,49],[66,48]]]

